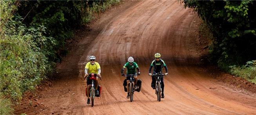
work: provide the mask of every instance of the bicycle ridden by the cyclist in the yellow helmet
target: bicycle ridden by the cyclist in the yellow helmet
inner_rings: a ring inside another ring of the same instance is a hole
[[[157,95],[157,101],[161,101],[161,92],[162,92],[162,88],[161,88],[161,78],[163,77],[164,74],[162,73],[156,73],[153,74],[152,77],[154,77],[156,79],[156,95]]]

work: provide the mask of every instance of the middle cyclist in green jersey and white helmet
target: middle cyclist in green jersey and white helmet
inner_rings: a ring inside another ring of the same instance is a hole
[[[123,68],[121,70],[121,75],[124,75],[123,74],[123,70],[125,68],[127,68],[127,72],[126,72],[127,75],[129,75],[129,74],[136,74],[136,68],[138,70],[138,75],[140,75],[140,68],[139,68],[138,64],[136,62],[134,62],[133,57],[129,57],[128,58],[128,62],[125,63],[125,65],[123,66]],[[137,80],[138,80],[138,76],[133,76],[133,78],[134,78],[134,88],[137,89],[136,83],[137,83]],[[128,98],[130,98],[129,88],[128,88],[129,79],[127,79],[126,82],[127,82],[126,88],[127,88],[127,91],[128,91],[126,98],[128,99]]]

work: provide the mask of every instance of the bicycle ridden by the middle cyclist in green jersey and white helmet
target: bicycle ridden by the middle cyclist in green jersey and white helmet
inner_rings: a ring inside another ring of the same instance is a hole
[[[134,90],[134,78],[133,78],[133,76],[137,76],[137,74],[125,75],[126,79],[129,80],[128,89],[129,89],[130,101],[131,101],[131,102],[133,102],[133,93],[135,92],[135,90]],[[128,77],[130,77],[130,78],[128,79]]]

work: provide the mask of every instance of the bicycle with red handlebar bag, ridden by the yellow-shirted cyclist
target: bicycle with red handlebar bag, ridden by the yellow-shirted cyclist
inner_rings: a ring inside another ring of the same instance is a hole
[[[91,98],[91,106],[92,107],[94,106],[94,98],[95,98],[95,92],[96,92],[95,86],[94,86],[94,81],[96,80],[97,76],[98,76],[97,74],[93,74],[93,73],[87,75],[87,77],[89,77],[89,79],[92,80],[91,89],[90,89],[90,95],[89,95],[89,97]],[[100,77],[100,76],[98,76],[98,77]],[[100,77],[100,80],[101,80],[101,77]]]

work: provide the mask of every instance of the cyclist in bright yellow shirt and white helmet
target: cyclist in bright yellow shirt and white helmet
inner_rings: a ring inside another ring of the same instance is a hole
[[[84,69],[84,72],[85,72],[85,75],[84,77],[87,77],[89,74],[91,73],[96,73],[97,74],[97,77],[96,77],[96,82],[95,82],[95,90],[96,90],[96,95],[99,95],[99,92],[98,92],[98,84],[99,84],[99,81],[98,81],[98,76],[100,76],[100,64],[98,62],[95,61],[96,57],[95,56],[90,56],[90,61],[85,65],[85,69]],[[89,79],[89,77],[87,77],[87,104],[90,104],[90,98],[89,98],[89,90],[91,88],[91,84],[92,84],[92,80]]]

